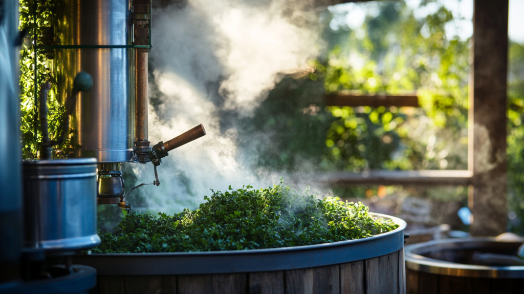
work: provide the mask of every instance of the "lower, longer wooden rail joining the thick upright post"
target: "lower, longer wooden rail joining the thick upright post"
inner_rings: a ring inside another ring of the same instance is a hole
[[[314,177],[314,181],[334,186],[355,185],[450,185],[468,186],[469,170],[371,170],[367,172],[331,172]]]

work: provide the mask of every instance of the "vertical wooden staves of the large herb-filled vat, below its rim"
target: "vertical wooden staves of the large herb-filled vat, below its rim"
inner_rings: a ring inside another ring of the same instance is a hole
[[[400,251],[322,267],[220,275],[99,276],[100,294],[403,294]],[[408,275],[409,277],[409,275]]]

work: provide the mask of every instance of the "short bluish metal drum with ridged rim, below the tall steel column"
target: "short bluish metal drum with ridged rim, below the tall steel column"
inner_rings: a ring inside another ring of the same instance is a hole
[[[100,244],[96,159],[24,162],[25,248],[74,251]]]

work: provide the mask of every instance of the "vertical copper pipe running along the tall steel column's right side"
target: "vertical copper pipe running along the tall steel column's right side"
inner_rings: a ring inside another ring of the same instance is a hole
[[[149,98],[147,95],[147,48],[136,49],[136,128],[135,140],[147,141],[147,108],[149,105]]]

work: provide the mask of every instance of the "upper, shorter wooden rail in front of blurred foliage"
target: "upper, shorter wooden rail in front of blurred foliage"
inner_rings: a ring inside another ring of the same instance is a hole
[[[328,106],[412,106],[419,107],[417,95],[350,95],[326,94],[325,105]]]

